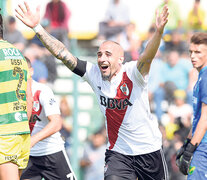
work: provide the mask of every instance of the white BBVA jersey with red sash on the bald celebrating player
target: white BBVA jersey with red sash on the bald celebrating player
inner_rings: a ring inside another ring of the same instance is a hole
[[[107,148],[125,155],[151,153],[162,146],[158,122],[150,112],[147,79],[136,63],[125,63],[109,82],[102,80],[98,65],[87,62],[83,76],[96,93],[105,116]]]

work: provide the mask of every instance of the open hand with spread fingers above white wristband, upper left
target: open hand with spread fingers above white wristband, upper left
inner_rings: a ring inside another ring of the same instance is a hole
[[[36,12],[33,13],[27,2],[24,1],[24,5],[18,5],[16,8],[16,17],[21,20],[25,25],[30,28],[34,28],[40,22],[40,6],[36,8]],[[26,8],[26,9],[25,9]]]

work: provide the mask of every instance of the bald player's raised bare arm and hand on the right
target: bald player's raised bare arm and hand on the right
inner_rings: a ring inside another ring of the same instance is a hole
[[[150,65],[157,53],[165,24],[168,21],[168,14],[167,5],[164,6],[161,14],[159,14],[158,10],[156,11],[156,32],[149,40],[147,47],[137,61],[137,68],[142,76],[145,76],[149,73]]]

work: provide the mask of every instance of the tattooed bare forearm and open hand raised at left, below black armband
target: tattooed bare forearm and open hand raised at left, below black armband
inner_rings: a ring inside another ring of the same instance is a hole
[[[16,17],[20,19],[26,26],[33,28],[37,37],[44,46],[57,58],[60,59],[71,71],[77,66],[77,58],[73,56],[63,43],[51,36],[40,23],[40,7],[36,12],[32,12],[27,2],[24,5],[18,5],[15,9]],[[25,7],[24,7],[25,6]]]

